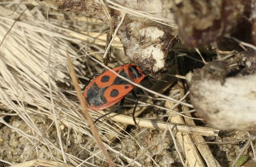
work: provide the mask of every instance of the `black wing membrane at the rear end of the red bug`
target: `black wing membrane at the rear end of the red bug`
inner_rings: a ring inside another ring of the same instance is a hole
[[[99,88],[96,83],[88,89],[86,101],[90,106],[100,106],[106,103],[106,99],[104,97],[104,91],[108,87]]]

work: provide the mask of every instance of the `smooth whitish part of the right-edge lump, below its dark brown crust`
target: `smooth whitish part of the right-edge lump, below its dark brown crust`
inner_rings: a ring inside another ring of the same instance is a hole
[[[190,87],[191,99],[197,112],[211,126],[222,130],[255,131],[255,82],[255,75],[227,78],[224,85],[220,81],[201,80]]]

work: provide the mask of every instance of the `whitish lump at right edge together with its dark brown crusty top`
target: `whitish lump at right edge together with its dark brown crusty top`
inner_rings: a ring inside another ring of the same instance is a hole
[[[250,64],[236,76],[227,63],[214,61],[186,75],[190,98],[197,113],[212,127],[221,130],[255,132],[256,63],[255,51],[245,51],[242,60]]]

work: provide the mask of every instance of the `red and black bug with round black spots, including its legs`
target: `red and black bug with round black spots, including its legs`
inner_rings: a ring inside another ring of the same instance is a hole
[[[127,64],[114,68],[113,70],[126,79],[133,81],[134,83],[139,83],[145,77],[145,74],[142,72],[140,67],[135,64]],[[98,77],[92,80],[95,76]],[[102,74],[94,74],[88,81],[88,84],[84,86],[85,89],[83,96],[86,98],[88,108],[92,110],[105,109],[121,101],[119,107],[109,113],[101,115],[95,122],[97,122],[100,118],[122,108],[124,96],[131,91],[136,100],[133,110],[133,120],[136,124],[134,114],[138,104],[138,97],[133,91],[134,87],[135,86],[131,83],[121,79],[120,77],[117,77],[110,70],[105,71]]]

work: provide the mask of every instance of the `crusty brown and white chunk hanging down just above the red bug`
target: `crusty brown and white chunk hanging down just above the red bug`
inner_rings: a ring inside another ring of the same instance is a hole
[[[118,26],[119,30],[116,33],[123,45],[124,54],[154,78],[160,76],[167,54],[177,41],[178,30],[173,14],[163,8],[167,3],[165,1],[28,0],[28,2],[98,18],[113,31],[117,30],[117,25],[125,14],[123,23]]]

